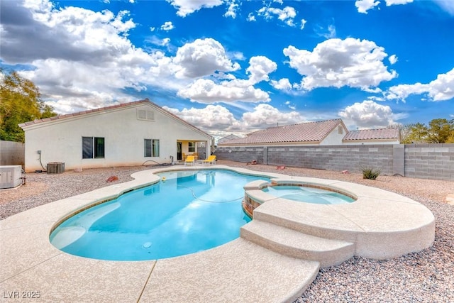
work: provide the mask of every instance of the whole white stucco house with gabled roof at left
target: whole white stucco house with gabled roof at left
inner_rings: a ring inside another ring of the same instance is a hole
[[[21,123],[25,170],[153,165],[210,155],[211,136],[148,99]],[[200,144],[203,143],[203,144]],[[200,148],[204,146],[204,148]]]

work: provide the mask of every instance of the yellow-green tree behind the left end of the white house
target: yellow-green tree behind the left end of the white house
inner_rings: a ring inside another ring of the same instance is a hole
[[[0,69],[0,140],[24,142],[19,123],[57,116],[40,97],[33,82]]]

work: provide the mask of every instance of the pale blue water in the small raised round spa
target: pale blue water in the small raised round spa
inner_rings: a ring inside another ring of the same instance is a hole
[[[326,189],[304,186],[272,186],[262,189],[275,197],[314,204],[343,204],[355,199]]]

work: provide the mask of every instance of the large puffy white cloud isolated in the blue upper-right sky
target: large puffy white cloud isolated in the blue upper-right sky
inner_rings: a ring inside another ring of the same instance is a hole
[[[289,57],[289,65],[304,76],[299,86],[305,90],[344,86],[371,89],[397,77],[382,62],[387,57],[384,48],[369,40],[329,39],[312,52],[290,45],[284,48],[284,55]]]

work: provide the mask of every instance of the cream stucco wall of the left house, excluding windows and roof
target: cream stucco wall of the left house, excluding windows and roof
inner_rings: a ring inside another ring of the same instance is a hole
[[[154,121],[138,120],[138,110],[153,111]],[[82,159],[82,137],[104,138],[104,158]],[[159,139],[160,156],[144,156],[144,139]],[[177,140],[207,141],[182,121],[143,104],[108,112],[83,114],[77,118],[37,123],[26,128],[26,171],[42,170],[41,162],[65,162],[65,170],[76,168],[142,165],[143,162],[177,160]],[[206,144],[209,146],[209,143]]]

